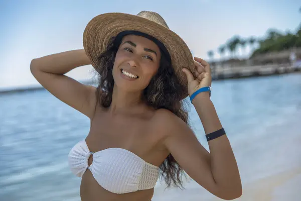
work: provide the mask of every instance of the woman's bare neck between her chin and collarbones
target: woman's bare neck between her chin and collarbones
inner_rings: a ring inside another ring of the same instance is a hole
[[[130,113],[142,106],[141,91],[124,91],[114,85],[110,114]]]

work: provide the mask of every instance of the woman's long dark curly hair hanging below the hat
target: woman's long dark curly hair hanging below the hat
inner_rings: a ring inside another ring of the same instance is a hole
[[[98,57],[98,65],[95,68],[98,72],[97,103],[104,108],[108,108],[112,102],[114,86],[112,70],[120,43],[121,39],[111,38],[106,51]],[[184,109],[186,102],[181,100],[181,94],[179,93],[183,90],[183,86],[180,85],[171,61],[167,59],[165,54],[161,55],[158,72],[144,89],[142,98],[148,106],[154,109],[167,109],[188,124],[188,112]],[[186,174],[171,154],[160,165],[160,174],[164,178],[167,187],[173,185],[184,188],[182,176],[186,176]]]

